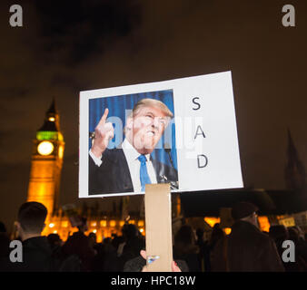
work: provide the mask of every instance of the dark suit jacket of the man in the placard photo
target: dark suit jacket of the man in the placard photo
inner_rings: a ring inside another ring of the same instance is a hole
[[[89,156],[89,195],[133,192],[134,186],[130,176],[127,160],[123,149],[104,151],[100,167],[95,165]],[[178,181],[178,172],[157,160],[152,160],[158,183],[171,182],[175,187]]]

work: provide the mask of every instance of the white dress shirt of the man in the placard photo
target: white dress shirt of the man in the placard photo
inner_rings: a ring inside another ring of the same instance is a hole
[[[128,163],[128,168],[130,171],[130,176],[133,181],[133,186],[134,186],[134,192],[142,192],[141,189],[141,180],[140,180],[140,169],[141,169],[141,162],[138,160],[138,157],[141,155],[137,150],[134,149],[134,146],[130,144],[128,140],[124,140],[122,144],[122,148],[124,151],[124,157],[127,160]],[[96,158],[92,151],[90,150],[90,156],[94,160],[94,163],[97,166],[101,166],[103,161],[100,158]],[[157,183],[157,179],[155,176],[155,171],[153,169],[153,162],[150,160],[150,154],[146,154],[146,167],[147,167],[147,172],[149,175],[149,178],[151,179],[152,183]]]

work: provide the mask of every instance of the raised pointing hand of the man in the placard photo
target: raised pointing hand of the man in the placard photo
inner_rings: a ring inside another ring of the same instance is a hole
[[[94,141],[92,145],[92,152],[94,156],[100,158],[107,148],[109,140],[114,138],[114,127],[111,122],[105,122],[109,113],[109,109],[104,110],[104,115],[94,129]]]

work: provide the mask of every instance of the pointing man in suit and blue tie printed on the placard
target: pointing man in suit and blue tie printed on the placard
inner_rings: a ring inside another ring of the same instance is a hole
[[[164,150],[168,164],[152,156],[173,119],[173,112],[159,100],[139,100],[125,120],[123,142],[114,149],[108,149],[114,138],[114,126],[107,121],[108,114],[109,109],[105,108],[92,135],[89,195],[142,193],[145,184],[154,183],[170,183],[171,189],[178,189],[178,173],[170,150]]]

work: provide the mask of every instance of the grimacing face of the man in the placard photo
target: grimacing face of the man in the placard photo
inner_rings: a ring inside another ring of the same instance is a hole
[[[170,117],[159,107],[142,107],[127,119],[126,138],[140,154],[150,154],[169,121]]]

